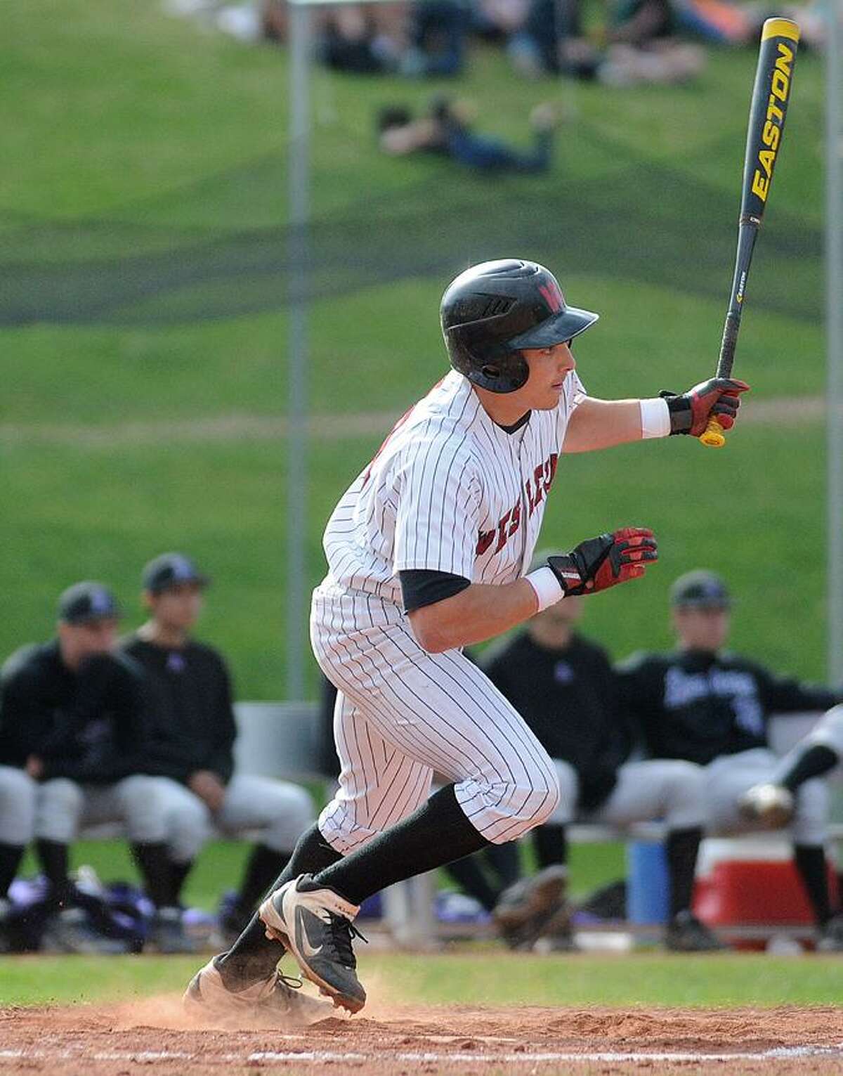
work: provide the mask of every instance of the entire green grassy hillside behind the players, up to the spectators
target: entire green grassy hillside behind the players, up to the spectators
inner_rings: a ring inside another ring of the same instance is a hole
[[[42,0],[10,12],[5,60],[0,653],[47,635],[77,578],[111,581],[135,623],[141,564],[182,548],[217,580],[203,633],[240,694],[283,696],[285,442],[249,437],[249,422],[286,406],[285,55],[156,3]],[[398,414],[441,376],[438,299],[467,259],[546,259],[572,301],[602,312],[577,348],[595,395],[709,372],[754,62],[713,53],[691,86],[623,93],[519,82],[482,48],[458,87],[316,72],[311,581],[327,512],[387,424],[348,439],[332,416]],[[759,399],[823,386],[820,75],[800,57],[753,269],[738,369]],[[514,140],[532,103],[559,103],[553,173],[489,180],[380,157],[376,107],[437,88]],[[747,425],[719,455],[671,441],[566,461],[547,544],[643,522],[663,550],[634,594],[595,604],[588,629],[618,655],[669,645],[669,582],[709,565],[739,595],[737,646],[821,676],[824,451],[816,424],[786,438]],[[785,535],[800,564],[787,585],[773,555]]]

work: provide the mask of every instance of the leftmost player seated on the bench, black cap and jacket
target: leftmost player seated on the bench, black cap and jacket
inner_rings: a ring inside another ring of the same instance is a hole
[[[0,773],[6,781],[8,770],[16,774],[19,795],[2,805],[3,893],[34,834],[55,911],[45,942],[68,952],[122,951],[92,932],[68,872],[83,823],[120,822],[156,907],[153,943],[190,951],[170,901],[168,817],[154,782],[139,774],[144,730],[134,675],[113,653],[118,617],[105,586],[76,583],[59,599],[57,638],[24,647],[3,666]]]

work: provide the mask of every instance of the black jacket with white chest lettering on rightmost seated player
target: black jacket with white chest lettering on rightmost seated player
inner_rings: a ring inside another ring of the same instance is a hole
[[[773,713],[827,710],[843,697],[730,653],[634,654],[617,672],[627,716],[647,752],[703,766],[767,747]]]

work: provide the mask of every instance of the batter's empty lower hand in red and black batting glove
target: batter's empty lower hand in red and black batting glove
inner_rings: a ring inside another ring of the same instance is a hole
[[[611,535],[589,538],[563,556],[548,556],[565,596],[597,594],[609,586],[643,576],[647,564],[658,560],[653,532],[646,527],[621,527]]]

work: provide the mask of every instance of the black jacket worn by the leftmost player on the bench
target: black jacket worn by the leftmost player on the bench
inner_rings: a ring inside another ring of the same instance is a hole
[[[44,780],[108,784],[140,771],[144,740],[138,670],[122,655],[98,654],[74,672],[53,640],[3,665],[0,764],[23,768],[34,754]]]

